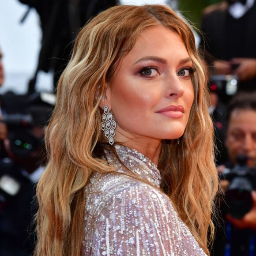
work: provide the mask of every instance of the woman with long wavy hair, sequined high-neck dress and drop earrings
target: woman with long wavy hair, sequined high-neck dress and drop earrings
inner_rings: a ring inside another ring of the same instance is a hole
[[[189,26],[162,5],[103,11],[58,84],[35,255],[208,254],[212,140]]]

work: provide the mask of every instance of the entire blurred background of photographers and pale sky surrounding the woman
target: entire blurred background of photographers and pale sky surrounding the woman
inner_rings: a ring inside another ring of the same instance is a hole
[[[246,190],[256,190],[256,0],[2,0],[0,256],[30,256],[34,250],[30,224],[37,204],[32,199],[47,162],[44,132],[56,84],[79,28],[115,4],[166,4],[193,25],[207,69],[220,184],[230,182],[228,194],[233,181],[247,181],[235,188],[238,199],[230,196],[229,207],[237,206],[230,214],[248,213],[253,219],[233,226],[237,219],[222,217],[229,212],[220,198],[211,256],[256,256],[256,198],[252,207],[251,190]]]

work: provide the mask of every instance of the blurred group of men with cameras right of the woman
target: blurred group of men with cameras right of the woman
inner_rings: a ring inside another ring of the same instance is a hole
[[[209,83],[222,188],[214,256],[256,255],[255,14],[254,0],[225,0],[205,8],[201,19],[200,52],[209,80],[223,80]],[[237,81],[232,95],[226,91],[230,76]]]

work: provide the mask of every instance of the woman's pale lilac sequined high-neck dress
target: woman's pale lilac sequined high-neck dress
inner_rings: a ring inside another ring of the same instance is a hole
[[[158,190],[157,167],[135,150],[115,147],[123,165],[105,153],[118,173],[95,173],[86,189],[83,255],[205,256],[168,196]],[[148,183],[128,176],[125,166]]]

